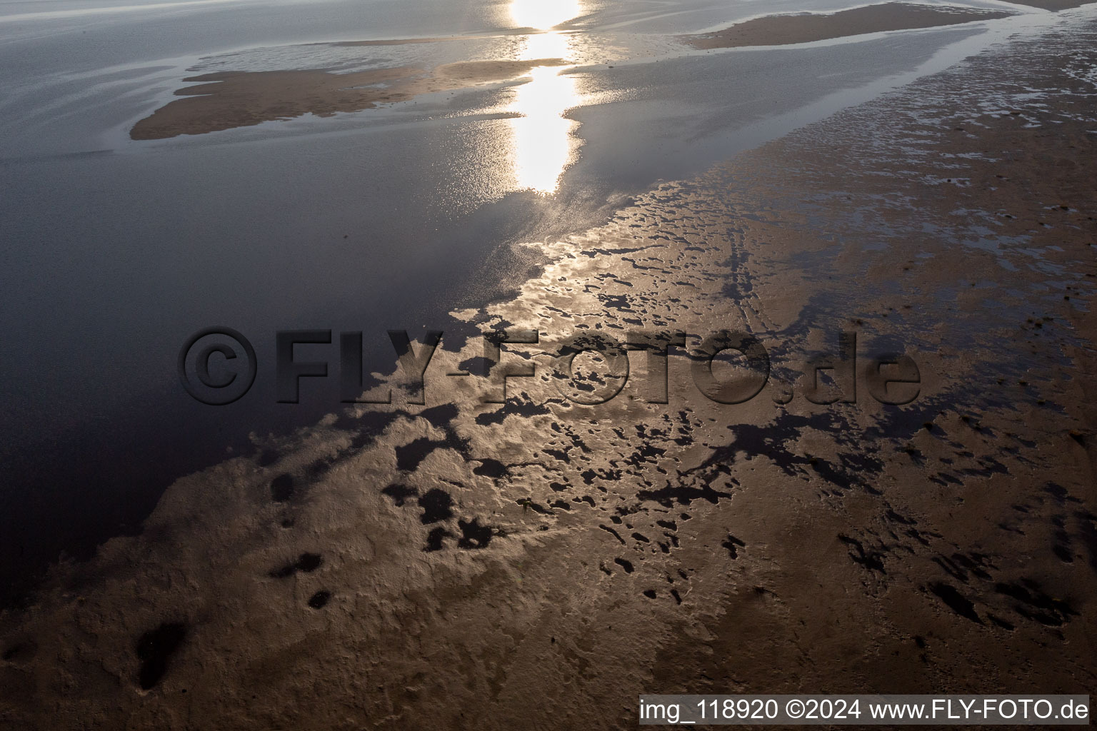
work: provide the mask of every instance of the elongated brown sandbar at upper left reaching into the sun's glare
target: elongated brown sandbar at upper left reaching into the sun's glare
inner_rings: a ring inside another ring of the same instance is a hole
[[[303,114],[331,116],[392,104],[417,94],[514,79],[538,66],[565,66],[558,58],[446,64],[428,72],[414,66],[333,73],[303,71],[219,71],[183,79],[205,83],[176,91],[178,99],[137,122],[133,139],[248,127]]]

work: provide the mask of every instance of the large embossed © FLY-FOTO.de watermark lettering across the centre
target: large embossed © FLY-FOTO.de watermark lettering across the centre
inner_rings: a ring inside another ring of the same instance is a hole
[[[442,331],[425,333],[412,343],[406,330],[389,330],[396,372],[407,393],[406,402],[426,403],[428,372],[442,342]],[[687,345],[688,341],[692,341]],[[467,369],[449,369],[443,377],[485,379],[486,403],[506,403],[508,381],[538,375],[538,363],[522,346],[545,345],[539,355],[547,355],[550,375],[559,393],[583,406],[599,406],[617,398],[626,387],[635,387],[638,398],[648,403],[669,403],[669,359],[675,354],[689,359],[693,385],[704,398],[716,403],[737,404],[750,401],[770,382],[769,353],[755,335],[735,330],[720,330],[708,335],[687,336],[680,331],[633,330],[623,339],[604,332],[581,332],[545,343],[536,330],[500,329],[483,333],[483,350]],[[305,359],[298,346],[329,346],[327,359]],[[511,347],[505,347],[505,346]],[[280,330],[274,335],[273,376],[279,403],[299,403],[302,381],[338,378],[342,403],[393,402],[391,388],[366,395],[363,373],[361,331],[333,333],[331,330]],[[630,352],[638,353],[645,367],[630,370]],[[581,373],[576,366],[584,356]],[[242,398],[259,373],[256,350],[241,333],[231,328],[207,328],[194,333],[179,352],[179,379],[194,399],[210,406],[225,406]],[[638,384],[636,382],[638,381]],[[632,384],[632,386],[630,386]],[[803,364],[801,395],[810,402],[856,403],[858,384],[880,403],[911,403],[921,388],[921,376],[914,358],[904,353],[859,356],[857,333],[840,332],[833,353],[817,355]],[[376,390],[376,389],[374,389]],[[788,403],[794,398],[791,385],[773,389],[773,401]]]

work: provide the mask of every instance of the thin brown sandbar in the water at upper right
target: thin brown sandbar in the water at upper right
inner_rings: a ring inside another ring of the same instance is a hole
[[[827,14],[767,15],[736,23],[716,33],[682,37],[695,48],[783,46],[863,33],[955,25],[1006,18],[1010,14],[1009,12],[972,8],[885,2]]]

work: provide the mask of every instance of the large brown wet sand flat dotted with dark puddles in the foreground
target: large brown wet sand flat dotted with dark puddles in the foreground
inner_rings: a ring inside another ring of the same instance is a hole
[[[494,406],[442,375],[480,343],[440,350],[426,407],[262,439],[59,566],[0,617],[0,726],[618,729],[642,693],[1089,693],[1095,61],[1097,23],[1064,19],[530,244],[543,272],[450,329],[536,329],[508,357],[539,364],[576,332],[743,329],[771,385],[716,404],[676,356],[669,404],[637,359],[601,407],[544,368]],[[909,354],[918,398],[807,402],[796,373],[842,330]]]

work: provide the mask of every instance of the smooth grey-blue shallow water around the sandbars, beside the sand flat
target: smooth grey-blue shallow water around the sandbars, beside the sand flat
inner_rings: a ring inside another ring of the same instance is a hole
[[[982,3],[989,7],[994,3]],[[811,10],[834,10],[819,2]],[[660,180],[1039,25],[699,53],[698,32],[783,2],[286,2],[0,5],[3,580],[133,532],[180,475],[338,409],[275,403],[274,331],[441,327],[538,264],[513,244],[584,230]],[[523,26],[525,30],[522,30]],[[555,26],[555,30],[547,30]],[[406,46],[337,41],[464,36]],[[319,44],[319,45],[304,45]],[[184,78],[561,57],[507,82],[317,118],[135,141]],[[223,409],[179,387],[178,349],[227,324],[260,375]],[[319,351],[316,351],[319,352]],[[330,355],[330,354],[328,354]],[[265,364],[265,366],[264,366]],[[331,379],[333,380],[333,379]]]

